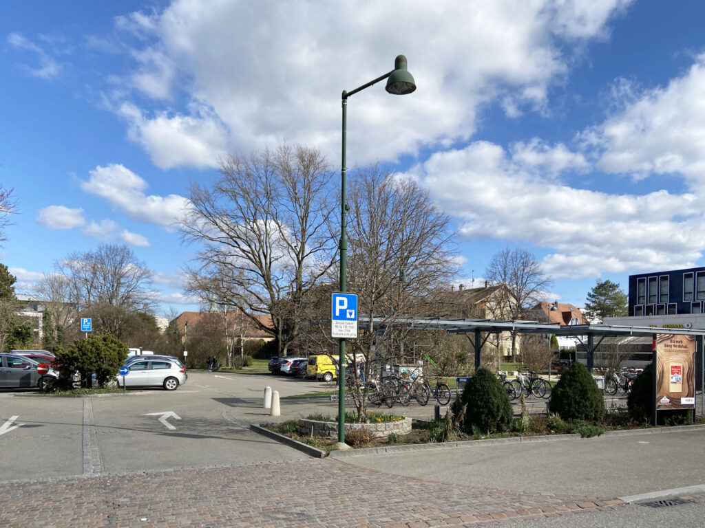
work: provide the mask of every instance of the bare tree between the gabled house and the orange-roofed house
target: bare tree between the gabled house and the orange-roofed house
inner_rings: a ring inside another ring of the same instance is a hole
[[[492,307],[501,318],[521,320],[544,301],[553,281],[546,277],[532,253],[526,249],[503,249],[495,253],[485,270],[485,278],[506,288]],[[512,332],[512,360],[517,357],[517,331]]]

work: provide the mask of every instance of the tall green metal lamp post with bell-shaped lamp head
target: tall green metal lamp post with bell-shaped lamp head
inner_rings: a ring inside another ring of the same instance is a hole
[[[347,291],[346,279],[348,273],[348,236],[345,233],[347,219],[345,213],[348,210],[348,204],[345,201],[345,134],[348,120],[348,97],[362,92],[365,88],[371,87],[373,84],[387,79],[387,84],[384,89],[390,94],[405,95],[410,94],[416,89],[414,77],[407,71],[406,57],[403,55],[397,56],[394,60],[394,69],[389,73],[385,73],[375,80],[363,84],[361,87],[355,88],[350,92],[343,90],[343,159],[341,164],[341,283],[340,291]],[[341,338],[338,341],[338,442],[345,443],[345,339]]]

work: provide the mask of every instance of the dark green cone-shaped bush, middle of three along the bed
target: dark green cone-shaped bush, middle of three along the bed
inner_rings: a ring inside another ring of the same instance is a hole
[[[548,410],[566,422],[586,420],[594,422],[605,414],[602,391],[582,363],[573,363],[553,387]]]

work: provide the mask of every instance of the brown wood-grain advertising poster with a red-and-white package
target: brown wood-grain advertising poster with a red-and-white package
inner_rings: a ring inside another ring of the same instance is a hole
[[[656,337],[656,409],[695,408],[695,337]]]

